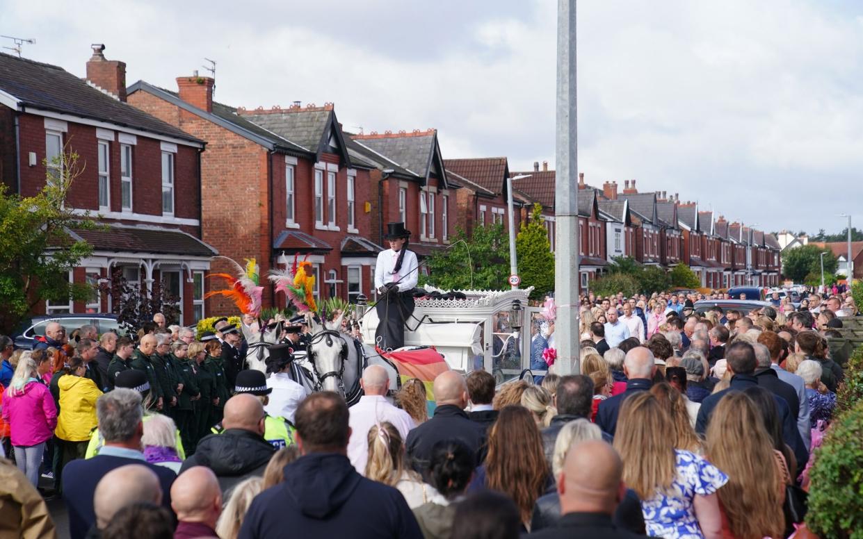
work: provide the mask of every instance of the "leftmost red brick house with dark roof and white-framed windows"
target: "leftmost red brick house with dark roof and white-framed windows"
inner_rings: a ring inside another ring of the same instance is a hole
[[[71,230],[90,257],[70,279],[96,284],[123,276],[180,298],[180,323],[205,314],[205,275],[217,251],[201,241],[200,155],[205,142],[126,103],[123,62],[94,46],[87,80],[58,66],[0,54],[0,177],[24,197],[47,168],[79,154],[83,173],[66,201],[109,229]],[[44,161],[43,161],[44,160]],[[48,163],[48,167],[43,164]],[[47,313],[110,312],[106,295],[41,305]]]

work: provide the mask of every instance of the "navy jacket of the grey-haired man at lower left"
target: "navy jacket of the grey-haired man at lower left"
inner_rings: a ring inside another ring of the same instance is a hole
[[[69,534],[72,539],[84,539],[87,531],[96,523],[93,511],[93,494],[99,479],[111,470],[127,464],[141,464],[159,476],[162,487],[162,506],[171,509],[171,485],[177,474],[167,467],[156,466],[147,461],[120,456],[98,454],[91,459],[76,459],[63,468],[63,500],[69,511]]]

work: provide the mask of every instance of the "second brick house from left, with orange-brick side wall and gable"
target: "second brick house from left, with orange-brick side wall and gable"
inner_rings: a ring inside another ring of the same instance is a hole
[[[202,158],[204,239],[261,277],[308,255],[317,298],[369,295],[378,247],[368,241],[369,169],[351,160],[331,104],[243,110],[214,102],[212,78],[177,78],[179,92],[138,81],[129,103],[208,142]],[[223,261],[214,267],[229,271]],[[236,308],[208,300],[210,314]],[[284,307],[271,286],[263,305]]]

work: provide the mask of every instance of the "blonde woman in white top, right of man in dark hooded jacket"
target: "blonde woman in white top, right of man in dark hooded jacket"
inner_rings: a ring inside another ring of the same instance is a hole
[[[366,479],[397,488],[412,510],[430,501],[446,505],[433,486],[405,466],[405,444],[393,423],[385,421],[374,425],[369,429],[367,439],[369,460],[363,473]]]

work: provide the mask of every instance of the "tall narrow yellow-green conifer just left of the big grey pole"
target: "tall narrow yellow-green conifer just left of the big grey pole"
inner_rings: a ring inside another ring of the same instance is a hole
[[[515,237],[515,253],[523,287],[533,286],[531,299],[545,298],[554,291],[554,254],[542,222],[542,206],[533,204],[530,219],[521,223]]]

